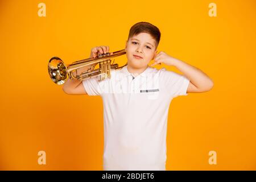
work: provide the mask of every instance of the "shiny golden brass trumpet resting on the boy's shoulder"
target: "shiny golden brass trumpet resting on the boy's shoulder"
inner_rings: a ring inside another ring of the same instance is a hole
[[[52,81],[57,85],[64,84],[69,77],[71,80],[85,80],[88,78],[100,76],[100,80],[104,80],[105,78],[111,77],[111,69],[121,69],[127,65],[123,65],[122,67],[118,67],[118,64],[111,63],[111,59],[113,57],[121,56],[126,53],[125,49],[121,51],[116,51],[112,53],[105,53],[102,55],[98,55],[95,58],[88,58],[80,61],[75,61],[72,64],[65,65],[64,62],[59,57],[52,57],[48,63],[48,72]],[[99,68],[94,70],[93,64],[98,64]],[[80,75],[77,75],[77,69],[91,65],[91,67],[82,72]],[[74,75],[76,72],[76,75]]]

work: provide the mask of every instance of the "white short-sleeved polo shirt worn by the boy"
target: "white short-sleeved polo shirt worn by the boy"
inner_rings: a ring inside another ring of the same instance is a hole
[[[104,170],[166,170],[168,109],[187,96],[188,78],[151,67],[134,78],[127,66],[111,75],[82,81],[104,104]]]

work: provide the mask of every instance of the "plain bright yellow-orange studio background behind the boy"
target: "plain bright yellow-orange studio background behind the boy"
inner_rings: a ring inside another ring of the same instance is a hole
[[[38,16],[40,2],[46,17]],[[217,17],[208,15],[210,2]],[[70,64],[102,45],[119,51],[130,27],[145,21],[162,33],[159,51],[214,81],[210,92],[172,101],[167,170],[255,170],[255,18],[254,0],[0,1],[0,169],[103,169],[101,97],[65,94],[49,78],[48,60]],[[46,165],[38,164],[40,150]]]

